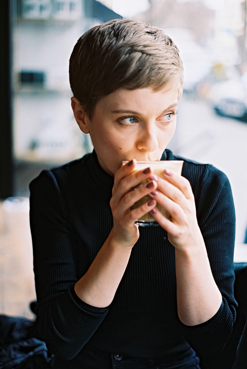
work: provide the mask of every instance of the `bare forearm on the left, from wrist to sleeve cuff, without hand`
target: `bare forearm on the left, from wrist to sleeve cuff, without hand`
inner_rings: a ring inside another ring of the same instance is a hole
[[[90,268],[75,284],[77,296],[95,307],[109,306],[124,275],[131,250],[130,246],[116,241],[111,232]]]

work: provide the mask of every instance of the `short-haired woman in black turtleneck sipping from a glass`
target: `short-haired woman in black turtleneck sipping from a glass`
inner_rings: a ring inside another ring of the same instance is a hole
[[[133,172],[136,161],[181,159],[166,149],[178,49],[159,28],[114,20],[78,40],[69,72],[94,151],[30,184],[37,323],[53,367],[208,368],[236,314],[229,181],[184,158],[182,176]],[[136,227],[149,211],[160,226]]]

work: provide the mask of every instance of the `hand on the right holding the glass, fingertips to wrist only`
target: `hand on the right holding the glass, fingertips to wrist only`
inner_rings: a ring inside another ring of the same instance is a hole
[[[164,217],[156,208],[152,216],[168,234],[168,239],[176,249],[184,249],[199,244],[204,245],[196,219],[194,194],[189,181],[171,170],[164,170],[164,179],[158,177],[156,194],[150,194],[171,215]]]

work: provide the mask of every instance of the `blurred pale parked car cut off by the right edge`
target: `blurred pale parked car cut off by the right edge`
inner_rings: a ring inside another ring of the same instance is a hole
[[[247,72],[215,83],[211,88],[210,100],[219,115],[247,121]]]

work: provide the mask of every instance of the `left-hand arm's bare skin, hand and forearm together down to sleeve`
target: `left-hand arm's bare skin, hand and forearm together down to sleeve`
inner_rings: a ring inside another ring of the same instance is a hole
[[[135,165],[136,160],[133,160],[122,165],[115,173],[110,200],[114,221],[112,230],[87,272],[74,286],[77,296],[89,305],[106,307],[111,304],[128,265],[132,247],[139,238],[135,220],[156,205],[156,201],[150,198],[147,201],[149,205],[146,203],[131,210],[136,201],[157,187],[155,177],[150,179],[151,170],[147,169],[146,173],[142,171],[132,173]],[[150,187],[145,185],[138,187],[145,179],[148,180],[147,184],[151,183]],[[134,190],[136,187],[138,188]]]

